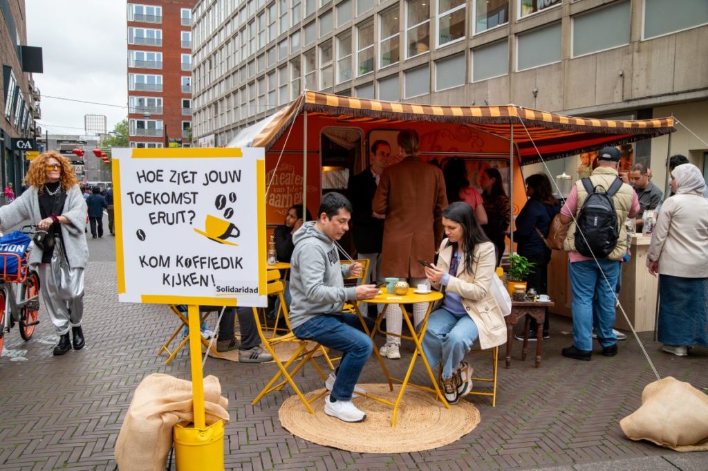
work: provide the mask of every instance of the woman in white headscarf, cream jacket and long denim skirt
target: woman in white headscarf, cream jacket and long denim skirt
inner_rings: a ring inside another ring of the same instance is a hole
[[[649,273],[659,276],[658,340],[662,350],[686,356],[708,346],[708,199],[697,166],[671,172],[675,193],[664,201],[651,234]]]

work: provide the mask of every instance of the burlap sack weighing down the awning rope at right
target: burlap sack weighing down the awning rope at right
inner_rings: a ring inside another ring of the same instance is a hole
[[[708,396],[668,376],[649,383],[641,407],[619,421],[627,438],[676,451],[708,451]]]

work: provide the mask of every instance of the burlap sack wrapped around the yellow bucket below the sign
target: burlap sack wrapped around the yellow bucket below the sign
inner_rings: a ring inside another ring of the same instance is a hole
[[[229,401],[221,395],[219,378],[204,378],[207,425],[229,421]],[[172,427],[191,422],[192,382],[153,374],[135,390],[115,442],[115,462],[120,471],[161,471],[172,446]]]

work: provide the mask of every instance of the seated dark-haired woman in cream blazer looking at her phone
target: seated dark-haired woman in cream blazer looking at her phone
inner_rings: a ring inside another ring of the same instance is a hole
[[[506,323],[491,293],[496,249],[472,208],[452,203],[442,212],[442,227],[447,239],[440,244],[438,265],[426,268],[426,276],[445,297],[430,313],[423,349],[431,368],[440,365],[440,387],[455,404],[472,389],[465,354],[476,339],[483,349],[506,342]]]

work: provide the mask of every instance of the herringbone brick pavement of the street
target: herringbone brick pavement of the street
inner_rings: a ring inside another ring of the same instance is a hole
[[[89,235],[89,248],[86,348],[53,357],[57,336],[43,306],[32,341],[23,342],[16,329],[6,336],[0,358],[0,470],[113,470],[115,439],[140,380],[149,373],[189,378],[186,348],[170,365],[155,355],[175,323],[168,310],[118,303],[113,238]],[[584,363],[560,356],[560,348],[571,344],[570,330],[569,319],[552,319],[552,338],[544,341],[539,369],[533,368],[532,355],[520,361],[520,342],[515,342],[509,370],[500,356],[497,407],[486,397],[468,397],[481,413],[479,426],[449,446],[416,453],[349,453],[294,437],[278,421],[278,407],[289,390],[251,406],[274,365],[210,358],[205,374],[220,378],[232,417],[224,440],[226,468],[708,470],[704,454],[632,442],[619,429],[619,419],[639,407],[641,390],[653,380],[636,340],[622,342],[614,358],[597,355]],[[691,356],[678,358],[658,351],[651,334],[641,338],[661,375],[708,386],[707,349],[694,348]],[[411,351],[404,344],[404,358]],[[486,358],[473,360],[481,373],[491,366]],[[388,365],[394,373],[404,368],[403,361]],[[362,382],[380,381],[378,374],[372,363]],[[306,391],[321,387],[314,377],[308,370],[298,381]],[[424,381],[420,369],[413,379]]]

